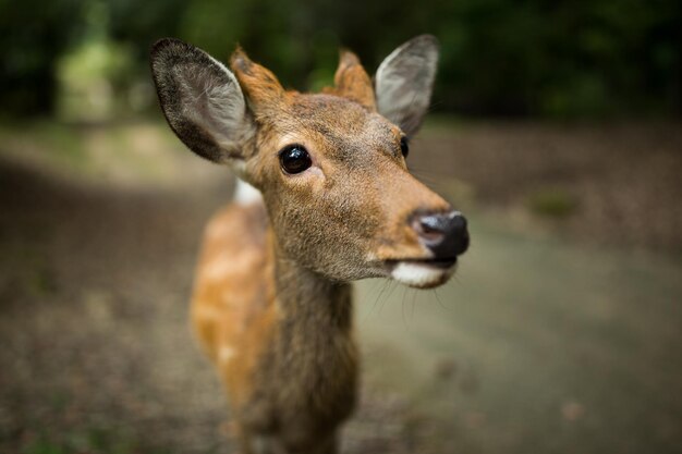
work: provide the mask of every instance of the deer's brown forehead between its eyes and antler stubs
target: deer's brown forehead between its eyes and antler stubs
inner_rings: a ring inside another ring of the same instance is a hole
[[[401,135],[398,126],[383,116],[334,95],[294,95],[281,120],[288,136],[321,142],[339,152],[386,147]]]

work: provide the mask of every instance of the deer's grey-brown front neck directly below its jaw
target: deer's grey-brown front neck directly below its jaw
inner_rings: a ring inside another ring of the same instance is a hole
[[[273,398],[282,408],[300,409],[306,403],[304,413],[315,415],[319,428],[333,427],[356,402],[351,285],[276,251],[275,289],[279,322],[269,368],[272,377],[285,377],[287,392],[280,386]]]

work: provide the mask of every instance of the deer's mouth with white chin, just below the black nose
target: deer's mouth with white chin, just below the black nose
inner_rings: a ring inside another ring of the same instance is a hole
[[[456,257],[388,260],[387,265],[395,281],[415,289],[434,289],[452,277],[456,268]]]

